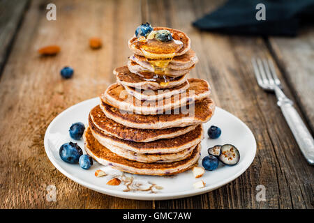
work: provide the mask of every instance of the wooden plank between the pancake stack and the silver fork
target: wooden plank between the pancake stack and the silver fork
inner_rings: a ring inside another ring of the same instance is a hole
[[[276,97],[257,86],[251,56],[271,57],[261,38],[200,32],[190,26],[216,7],[212,1],[149,1],[149,22],[186,32],[200,63],[191,77],[209,80],[219,107],[241,118],[257,139],[251,167],[218,190],[187,199],[155,201],[156,208],[313,208],[313,167],[294,141]],[[283,79],[278,71],[279,77]],[[288,96],[291,92],[283,79]],[[266,187],[265,202],[255,199]]]

